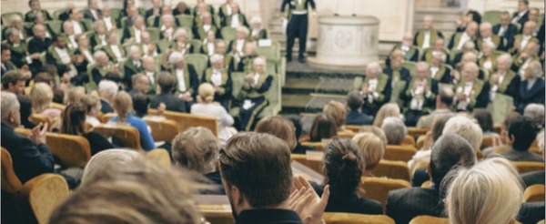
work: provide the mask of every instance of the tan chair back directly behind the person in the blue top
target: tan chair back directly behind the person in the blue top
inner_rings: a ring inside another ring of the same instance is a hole
[[[135,127],[126,124],[102,124],[94,128],[94,130],[105,137],[116,137],[121,142],[123,148],[133,148],[141,150],[140,134]]]

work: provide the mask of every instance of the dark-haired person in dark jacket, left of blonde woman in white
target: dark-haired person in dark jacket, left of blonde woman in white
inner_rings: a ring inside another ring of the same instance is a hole
[[[175,96],[175,78],[166,72],[157,76],[157,94],[150,102],[150,107],[157,108],[160,104],[165,104],[166,110],[175,112],[186,112],[186,102]]]

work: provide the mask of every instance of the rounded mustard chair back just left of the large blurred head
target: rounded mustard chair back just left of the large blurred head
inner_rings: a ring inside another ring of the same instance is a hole
[[[25,183],[21,196],[26,199],[35,219],[40,224],[48,222],[53,210],[68,198],[65,178],[57,174],[42,174]]]

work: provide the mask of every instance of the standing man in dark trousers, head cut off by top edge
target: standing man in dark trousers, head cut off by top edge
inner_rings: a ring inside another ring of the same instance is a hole
[[[280,6],[280,12],[285,12],[285,7],[288,5],[288,13],[285,18],[288,19],[287,27],[287,62],[292,60],[292,46],[294,40],[298,37],[299,53],[298,61],[305,63],[303,54],[305,53],[307,32],[308,32],[308,6],[313,10],[313,15],[317,15],[314,0],[283,0]]]

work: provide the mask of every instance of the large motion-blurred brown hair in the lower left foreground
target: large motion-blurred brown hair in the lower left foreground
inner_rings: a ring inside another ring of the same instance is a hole
[[[107,172],[78,188],[49,223],[199,223],[190,173],[162,168],[144,158]]]

